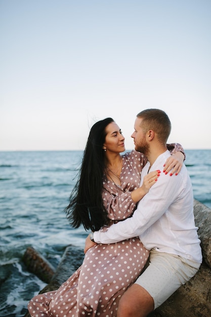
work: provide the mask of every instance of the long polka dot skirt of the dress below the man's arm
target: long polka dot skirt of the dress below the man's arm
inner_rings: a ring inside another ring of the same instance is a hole
[[[96,245],[57,291],[30,300],[29,313],[33,317],[115,317],[121,295],[136,281],[148,256],[138,237]]]

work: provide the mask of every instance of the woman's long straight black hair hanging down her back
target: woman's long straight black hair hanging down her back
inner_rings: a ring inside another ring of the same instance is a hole
[[[114,122],[112,118],[98,121],[90,130],[78,179],[65,208],[67,219],[74,228],[82,224],[86,230],[96,231],[108,223],[102,200],[102,177],[105,170],[105,129],[111,122]]]

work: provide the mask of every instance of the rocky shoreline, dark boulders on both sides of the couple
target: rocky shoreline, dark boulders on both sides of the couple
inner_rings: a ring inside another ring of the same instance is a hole
[[[181,286],[149,317],[210,317],[211,316],[211,209],[194,200],[195,224],[199,228],[203,263],[196,275]],[[83,250],[67,246],[56,271],[34,249],[28,248],[23,261],[29,271],[47,286],[39,293],[56,290],[81,265]],[[30,317],[26,312],[24,317]],[[61,316],[62,317],[62,316]]]

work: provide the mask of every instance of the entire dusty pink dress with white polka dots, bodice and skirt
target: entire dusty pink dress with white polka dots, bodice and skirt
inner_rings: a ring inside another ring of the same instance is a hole
[[[131,191],[139,187],[145,164],[143,154],[125,153],[122,155],[121,186],[103,179],[103,200],[112,222],[133,213],[136,205]],[[29,313],[32,317],[116,317],[121,295],[136,281],[148,256],[149,251],[138,237],[96,245],[87,251],[82,265],[58,290],[30,300]]]

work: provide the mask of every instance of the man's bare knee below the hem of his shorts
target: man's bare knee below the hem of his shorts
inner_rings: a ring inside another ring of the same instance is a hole
[[[117,317],[146,317],[154,310],[154,300],[140,285],[133,284],[119,301]]]

